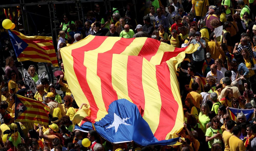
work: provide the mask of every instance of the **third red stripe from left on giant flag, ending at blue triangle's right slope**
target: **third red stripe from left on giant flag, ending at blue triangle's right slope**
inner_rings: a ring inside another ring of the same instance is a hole
[[[128,56],[127,61],[127,87],[128,95],[138,107],[141,115],[144,114],[145,97],[142,86],[143,57]]]

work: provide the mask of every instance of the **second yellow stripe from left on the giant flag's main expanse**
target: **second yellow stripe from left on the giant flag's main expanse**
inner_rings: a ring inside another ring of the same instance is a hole
[[[97,76],[97,60],[98,54],[93,52],[85,52],[84,66],[89,67],[86,71],[86,79],[91,89],[95,103],[99,109],[97,113],[97,119],[95,121],[99,121],[101,118],[105,117],[106,114],[108,114],[101,94],[101,80]]]

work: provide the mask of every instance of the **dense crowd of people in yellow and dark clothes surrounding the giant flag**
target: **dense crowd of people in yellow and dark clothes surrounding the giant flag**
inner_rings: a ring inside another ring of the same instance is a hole
[[[51,64],[44,63],[48,79],[41,79],[35,94],[31,94],[16,67],[10,40],[1,39],[2,49],[8,53],[1,54],[5,71],[1,70],[0,76],[0,151],[255,151],[256,1],[167,0],[166,6],[161,1],[165,0],[145,1],[145,8],[140,10],[143,18],[136,17],[132,4],[126,5],[123,16],[117,8],[104,14],[100,5],[95,4],[84,25],[63,14],[57,39],[60,70],[53,73]],[[142,21],[144,25],[137,24]],[[215,28],[221,26],[223,31],[217,37]],[[85,104],[79,107],[73,98],[60,49],[88,35],[148,37],[176,48],[199,45],[193,54],[186,54],[177,68],[185,117],[184,128],[177,133],[178,145],[140,146],[133,141],[113,144],[94,130],[74,131],[74,114]],[[38,73],[37,63],[26,63],[24,68],[37,82],[42,74]],[[58,94],[56,89],[63,93]],[[49,106],[49,125],[15,122],[15,94]],[[254,113],[249,118],[243,112],[231,118],[229,108],[254,109]],[[89,147],[82,145],[84,138],[91,141]]]

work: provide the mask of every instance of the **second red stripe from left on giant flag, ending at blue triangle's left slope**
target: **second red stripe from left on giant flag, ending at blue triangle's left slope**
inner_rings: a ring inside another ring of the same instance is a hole
[[[113,54],[99,53],[97,61],[97,75],[101,79],[101,94],[106,111],[113,101],[118,100],[116,91],[112,86],[112,57]]]

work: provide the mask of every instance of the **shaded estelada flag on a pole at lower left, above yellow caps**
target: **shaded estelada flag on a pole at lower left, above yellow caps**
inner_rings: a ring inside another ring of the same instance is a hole
[[[15,121],[49,125],[50,107],[20,95],[15,96]]]

